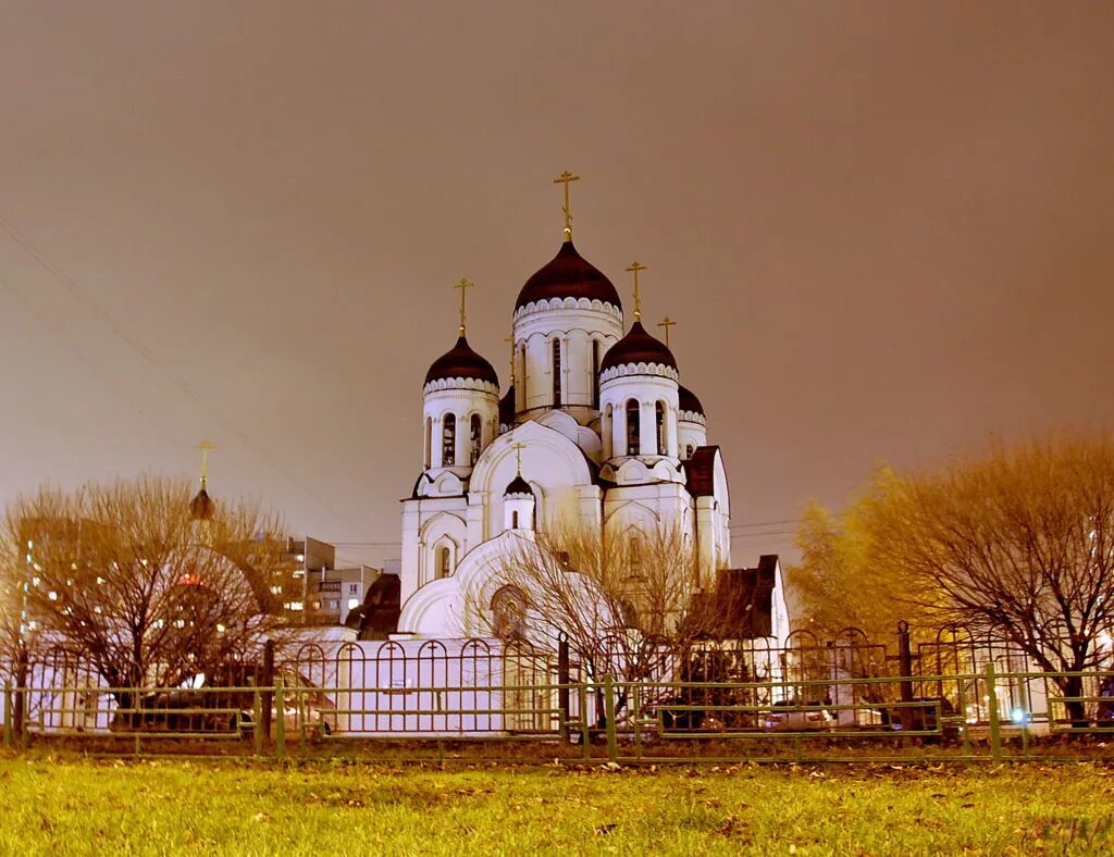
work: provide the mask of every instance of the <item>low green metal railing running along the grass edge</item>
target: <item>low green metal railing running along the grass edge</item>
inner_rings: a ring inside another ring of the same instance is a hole
[[[129,753],[182,752],[195,741],[223,753],[285,758],[404,742],[434,747],[546,743],[538,758],[606,761],[837,758],[842,750],[899,758],[1049,757],[1061,736],[1091,737],[1104,755],[1114,733],[1110,672],[794,678],[779,681],[529,681],[407,687],[391,680],[315,684],[109,688],[90,681],[3,688],[3,743],[98,743]],[[486,676],[488,673],[485,673]],[[363,677],[363,673],[360,673]],[[459,676],[459,673],[458,673]],[[934,696],[912,690],[941,689]],[[1018,688],[1026,688],[1027,708]],[[1065,690],[1068,689],[1068,690]],[[1040,692],[1035,692],[1039,689]],[[1071,689],[1076,689],[1072,691]],[[106,750],[107,751],[107,750]],[[196,751],[196,750],[192,750]],[[1114,752],[1114,751],[1112,751]],[[467,757],[467,755],[466,755]],[[853,755],[852,755],[853,758]]]

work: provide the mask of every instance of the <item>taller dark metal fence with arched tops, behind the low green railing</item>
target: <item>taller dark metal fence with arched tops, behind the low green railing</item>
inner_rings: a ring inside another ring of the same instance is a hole
[[[1016,669],[1028,664],[1008,647],[970,637],[903,659],[853,629],[789,642],[696,647],[649,678],[595,678],[567,650],[481,639],[313,644],[197,688],[105,687],[56,651],[23,686],[6,682],[3,739],[277,758],[392,742],[441,760],[492,743],[550,761],[1000,760],[1055,755],[1065,736],[1102,756],[1114,733],[1111,672]]]

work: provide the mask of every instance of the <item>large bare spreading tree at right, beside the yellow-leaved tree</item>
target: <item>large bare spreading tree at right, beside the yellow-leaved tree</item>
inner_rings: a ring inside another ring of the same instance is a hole
[[[1114,444],[1055,436],[942,473],[883,474],[863,506],[871,560],[940,624],[1019,647],[1049,672],[1100,666],[1114,620]],[[1065,697],[1077,678],[1058,678]],[[1067,703],[1073,721],[1082,702]]]

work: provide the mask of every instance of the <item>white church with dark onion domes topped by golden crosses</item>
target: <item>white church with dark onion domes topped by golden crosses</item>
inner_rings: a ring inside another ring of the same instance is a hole
[[[567,184],[566,184],[567,189]],[[566,194],[566,215],[567,194]],[[530,531],[594,529],[608,540],[682,533],[697,587],[731,565],[731,499],[704,407],[681,384],[670,347],[634,319],[610,279],[573,244],[514,306],[509,384],[466,338],[430,366],[422,388],[421,471],[402,502],[401,614],[394,639],[482,636],[469,592]],[[461,290],[469,284],[462,282]],[[666,327],[666,332],[667,332]],[[667,335],[666,335],[667,338]],[[780,570],[770,637],[789,632]]]

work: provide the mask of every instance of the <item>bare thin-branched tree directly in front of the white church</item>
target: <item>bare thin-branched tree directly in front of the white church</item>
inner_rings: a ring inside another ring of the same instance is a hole
[[[524,532],[483,589],[466,593],[468,623],[549,651],[567,641],[595,682],[675,679],[687,650],[724,629],[720,601],[695,590],[695,563],[675,530]],[[620,692],[616,710],[626,701]]]

